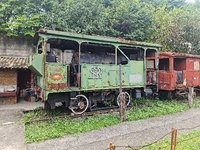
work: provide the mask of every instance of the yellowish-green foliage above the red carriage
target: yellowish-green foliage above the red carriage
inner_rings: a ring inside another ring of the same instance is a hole
[[[154,13],[155,32],[151,40],[163,45],[165,51],[197,53],[200,39],[200,9],[194,6],[174,8],[167,6]]]

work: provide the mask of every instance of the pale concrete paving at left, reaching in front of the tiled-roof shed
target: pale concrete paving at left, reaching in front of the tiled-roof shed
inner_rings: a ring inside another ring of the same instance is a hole
[[[39,107],[43,107],[41,101],[27,102],[21,100],[17,104],[0,105],[1,150],[26,150],[22,114],[23,111],[34,110]]]

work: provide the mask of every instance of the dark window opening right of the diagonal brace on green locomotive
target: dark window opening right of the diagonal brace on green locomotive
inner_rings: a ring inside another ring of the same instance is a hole
[[[144,49],[138,47],[119,46],[130,60],[144,60]]]

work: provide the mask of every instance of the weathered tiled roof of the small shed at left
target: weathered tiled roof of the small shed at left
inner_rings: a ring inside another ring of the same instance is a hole
[[[28,57],[0,56],[0,68],[28,68]]]

